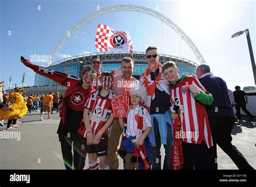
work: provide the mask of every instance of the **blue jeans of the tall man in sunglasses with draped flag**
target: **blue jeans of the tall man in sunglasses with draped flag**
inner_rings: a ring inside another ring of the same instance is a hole
[[[161,169],[161,137],[159,133],[159,123],[154,117],[154,136],[156,138],[156,147],[150,147],[150,152],[152,156],[152,169]],[[172,169],[171,167],[171,153],[172,153],[172,127],[169,123],[166,123],[167,126],[167,144],[164,145],[165,148],[165,158],[164,158],[164,168],[163,169]]]

